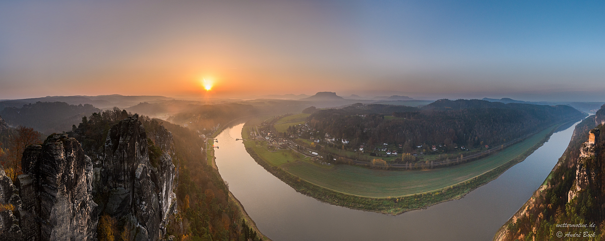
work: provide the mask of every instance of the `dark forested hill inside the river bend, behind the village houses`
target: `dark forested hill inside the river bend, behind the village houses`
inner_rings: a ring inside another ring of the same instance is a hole
[[[325,134],[347,139],[352,147],[378,144],[444,144],[447,149],[465,145],[500,145],[561,121],[584,114],[566,105],[503,104],[481,100],[441,99],[421,108],[355,104],[319,110],[307,123],[314,137]]]

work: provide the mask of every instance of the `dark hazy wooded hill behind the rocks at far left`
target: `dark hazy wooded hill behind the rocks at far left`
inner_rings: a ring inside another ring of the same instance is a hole
[[[22,125],[44,134],[70,131],[71,125],[79,124],[83,116],[99,112],[93,105],[70,105],[65,102],[36,102],[21,108],[7,107],[0,116],[13,127]]]

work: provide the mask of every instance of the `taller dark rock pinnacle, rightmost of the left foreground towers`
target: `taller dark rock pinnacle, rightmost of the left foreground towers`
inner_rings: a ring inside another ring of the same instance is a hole
[[[137,240],[159,239],[175,208],[172,134],[160,125],[154,135],[162,154],[150,160],[150,143],[137,114],[111,127],[105,141],[102,185],[97,186],[103,187],[98,192],[107,200],[100,204],[101,213],[129,220],[137,229],[130,232],[131,238]]]

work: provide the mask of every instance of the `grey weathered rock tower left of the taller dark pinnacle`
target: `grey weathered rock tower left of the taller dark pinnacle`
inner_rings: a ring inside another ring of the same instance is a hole
[[[25,240],[96,240],[93,166],[76,139],[51,134],[23,153],[17,183]]]

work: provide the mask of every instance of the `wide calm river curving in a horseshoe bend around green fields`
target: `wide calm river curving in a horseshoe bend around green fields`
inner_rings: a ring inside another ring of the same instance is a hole
[[[235,140],[241,139],[243,124],[218,135],[215,156],[229,190],[273,241],[491,240],[540,187],[567,148],[576,124],[552,134],[525,161],[462,199],[398,216],[351,210],[297,193],[258,165],[242,141]]]

